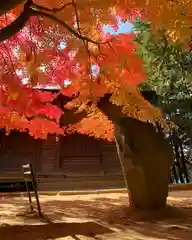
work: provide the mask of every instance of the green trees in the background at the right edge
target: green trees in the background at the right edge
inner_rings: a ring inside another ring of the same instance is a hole
[[[177,129],[168,134],[174,146],[175,165],[178,167],[173,171],[174,181],[189,181],[183,162],[190,171],[192,53],[179,44],[170,43],[163,28],[154,32],[150,23],[140,19],[134,26],[138,32],[135,39],[138,43],[137,54],[147,71],[147,81],[141,84],[141,88],[155,92],[153,104],[159,106],[165,117],[177,125]]]

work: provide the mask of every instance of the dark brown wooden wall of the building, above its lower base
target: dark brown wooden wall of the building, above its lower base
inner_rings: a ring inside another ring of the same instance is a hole
[[[32,163],[36,173],[66,176],[121,175],[114,143],[74,134],[35,140],[28,134],[0,134],[0,173]]]

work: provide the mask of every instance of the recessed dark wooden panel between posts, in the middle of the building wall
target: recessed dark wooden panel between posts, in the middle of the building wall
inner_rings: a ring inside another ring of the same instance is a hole
[[[67,175],[102,174],[100,141],[74,134],[60,140],[59,167]]]

